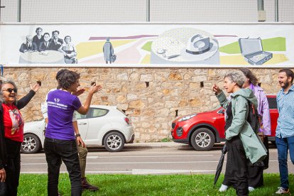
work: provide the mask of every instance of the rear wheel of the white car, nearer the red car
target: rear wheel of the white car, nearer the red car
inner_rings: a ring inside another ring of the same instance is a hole
[[[113,131],[105,136],[103,143],[107,151],[119,152],[124,148],[124,136]]]

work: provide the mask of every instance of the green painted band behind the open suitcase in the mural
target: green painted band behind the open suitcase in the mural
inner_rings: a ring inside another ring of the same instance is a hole
[[[285,51],[285,38],[276,37],[261,40],[263,51]],[[229,43],[219,48],[219,52],[227,54],[239,54],[241,53],[239,42]]]

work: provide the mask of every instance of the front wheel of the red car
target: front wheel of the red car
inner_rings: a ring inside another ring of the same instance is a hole
[[[214,134],[206,128],[194,131],[191,144],[196,151],[209,151],[214,146]]]

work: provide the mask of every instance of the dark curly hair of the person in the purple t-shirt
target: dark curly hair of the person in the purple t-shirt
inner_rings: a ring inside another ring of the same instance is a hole
[[[80,74],[67,70],[58,77],[58,89],[68,89],[80,79]]]

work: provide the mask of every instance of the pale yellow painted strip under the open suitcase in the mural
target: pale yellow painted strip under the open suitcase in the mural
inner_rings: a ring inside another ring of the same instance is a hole
[[[263,65],[275,65],[287,61],[288,58],[284,54],[273,54],[273,58],[263,63]],[[242,55],[228,55],[220,57],[221,65],[250,65],[244,60]]]

